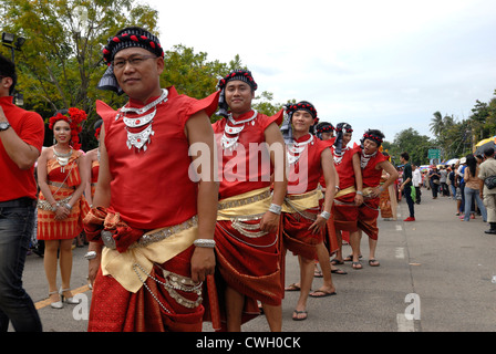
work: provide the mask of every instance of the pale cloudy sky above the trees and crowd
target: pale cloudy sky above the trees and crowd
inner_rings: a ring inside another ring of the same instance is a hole
[[[494,0],[138,1],[159,11],[164,48],[239,54],[275,102],[310,101],[356,142],[368,128],[431,136],[434,112],[467,118],[496,88]]]

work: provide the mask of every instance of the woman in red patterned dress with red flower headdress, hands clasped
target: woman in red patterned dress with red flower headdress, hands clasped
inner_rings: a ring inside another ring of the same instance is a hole
[[[63,301],[72,299],[72,241],[82,231],[82,219],[89,206],[82,198],[86,186],[85,156],[80,152],[78,134],[86,113],[70,108],[50,118],[50,128],[56,142],[44,149],[38,160],[38,239],[44,240],[44,270],[49,282],[51,306],[62,309]],[[56,287],[58,251],[62,287]]]

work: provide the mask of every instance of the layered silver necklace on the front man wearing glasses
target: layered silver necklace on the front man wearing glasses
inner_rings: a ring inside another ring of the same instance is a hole
[[[163,88],[162,95],[155,100],[154,102],[147,104],[146,106],[142,108],[133,108],[133,107],[122,107],[120,112],[117,113],[117,116],[115,117],[115,121],[117,121],[121,116],[123,117],[123,122],[125,125],[125,129],[127,132],[127,140],[126,145],[127,148],[131,149],[133,146],[137,148],[140,152],[142,148],[146,152],[148,148],[147,145],[152,142],[152,136],[155,135],[155,132],[152,128],[153,119],[155,118],[155,115],[157,114],[157,106],[161,103],[167,102],[167,95],[168,91]],[[147,113],[149,110],[155,108],[152,113]],[[127,117],[127,113],[133,113],[138,115],[137,117]],[[143,115],[145,114],[145,115]],[[128,128],[138,128],[147,125],[146,128],[138,133],[131,133]]]

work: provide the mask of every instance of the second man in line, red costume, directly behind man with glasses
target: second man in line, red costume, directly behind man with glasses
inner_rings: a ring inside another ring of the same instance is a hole
[[[236,70],[219,81],[219,112],[214,124],[219,157],[219,210],[215,230],[221,312],[227,331],[258,314],[281,331],[280,212],[286,195],[282,111],[268,117],[251,108],[257,83]],[[228,112],[230,110],[230,112]],[[271,195],[271,176],[273,194]]]

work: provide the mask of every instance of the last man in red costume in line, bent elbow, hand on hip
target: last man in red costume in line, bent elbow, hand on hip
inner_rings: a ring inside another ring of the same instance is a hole
[[[375,248],[378,246],[379,228],[379,198],[381,192],[386,189],[397,178],[397,171],[388,158],[379,152],[384,135],[376,129],[369,129],[363,134],[362,148],[360,153],[360,166],[362,168],[363,180],[363,204],[359,207],[358,227],[359,232],[350,236],[350,243],[353,252],[353,268],[361,269],[360,263],[360,241],[362,231],[369,236],[369,264],[378,267],[375,259]],[[385,170],[390,177],[381,186],[382,170]]]

